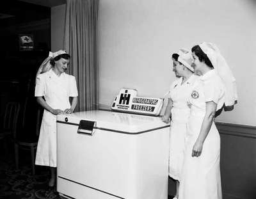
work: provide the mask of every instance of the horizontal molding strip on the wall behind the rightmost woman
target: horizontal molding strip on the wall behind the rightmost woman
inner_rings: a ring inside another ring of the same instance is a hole
[[[215,122],[220,134],[256,139],[256,126]]]

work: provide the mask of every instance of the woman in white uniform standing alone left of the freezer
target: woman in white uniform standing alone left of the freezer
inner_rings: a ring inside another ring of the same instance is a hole
[[[50,52],[36,76],[35,97],[38,104],[44,107],[44,115],[35,164],[50,167],[50,187],[56,182],[56,115],[73,113],[77,105],[76,79],[65,73],[69,61],[70,55],[66,51]]]

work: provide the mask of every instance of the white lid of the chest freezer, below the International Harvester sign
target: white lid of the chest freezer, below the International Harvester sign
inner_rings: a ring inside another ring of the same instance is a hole
[[[127,134],[141,134],[170,127],[170,124],[162,122],[159,116],[136,115],[113,111],[95,110],[57,116],[57,123],[77,125],[77,127],[81,120],[95,122],[95,129]]]

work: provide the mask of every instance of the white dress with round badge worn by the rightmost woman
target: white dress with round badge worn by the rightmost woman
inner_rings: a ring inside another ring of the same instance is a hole
[[[205,116],[205,102],[213,101],[217,110],[224,104],[225,88],[211,70],[200,76],[191,92],[191,113],[185,138],[184,166],[180,180],[179,199],[221,199],[220,134],[213,122],[205,138],[202,154],[192,157],[192,149]]]

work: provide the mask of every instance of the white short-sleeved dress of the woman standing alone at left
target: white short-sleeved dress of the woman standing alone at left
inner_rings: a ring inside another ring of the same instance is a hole
[[[44,96],[53,109],[70,108],[69,97],[77,97],[76,78],[65,73],[57,76],[51,69],[36,77],[35,96]],[[56,115],[45,109],[35,164],[56,167],[56,154]]]

